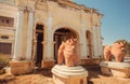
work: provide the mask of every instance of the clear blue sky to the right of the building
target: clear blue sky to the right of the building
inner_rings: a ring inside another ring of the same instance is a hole
[[[130,0],[74,0],[78,4],[98,9],[102,18],[103,44],[125,39],[130,42]]]

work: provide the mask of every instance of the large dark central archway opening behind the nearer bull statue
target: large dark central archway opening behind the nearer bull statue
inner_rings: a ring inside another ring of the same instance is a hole
[[[66,40],[70,38],[78,38],[76,32],[74,30],[67,29],[67,28],[60,28],[55,30],[54,36],[53,36],[53,41],[54,43],[54,59],[57,62],[57,51],[62,42],[65,42]]]

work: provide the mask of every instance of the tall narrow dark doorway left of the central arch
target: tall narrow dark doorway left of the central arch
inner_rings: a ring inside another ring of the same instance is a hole
[[[36,26],[37,50],[36,50],[36,66],[40,67],[43,57],[43,25]]]

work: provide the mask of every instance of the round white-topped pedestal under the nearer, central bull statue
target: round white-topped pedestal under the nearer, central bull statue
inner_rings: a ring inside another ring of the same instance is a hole
[[[52,68],[55,84],[87,84],[88,71],[81,66],[66,67],[54,66]]]

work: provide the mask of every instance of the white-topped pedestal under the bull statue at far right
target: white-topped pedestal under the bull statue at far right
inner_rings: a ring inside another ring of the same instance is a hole
[[[114,75],[114,76],[123,78],[123,79],[130,78],[130,64],[102,61],[100,66],[101,66],[101,71],[104,74]]]

